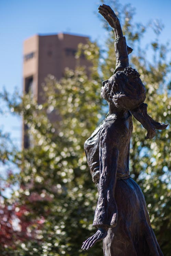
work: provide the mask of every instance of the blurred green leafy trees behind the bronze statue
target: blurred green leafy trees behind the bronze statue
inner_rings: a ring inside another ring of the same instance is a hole
[[[129,5],[122,7],[114,1],[109,4],[118,12],[128,45],[134,49],[130,66],[139,71],[145,84],[149,114],[155,120],[170,123],[167,46],[153,41],[150,47],[154,59],[149,62],[146,49],[140,47],[147,26],[133,23],[134,12]],[[9,109],[23,116],[32,141],[29,149],[17,152],[14,147],[8,147],[8,138],[1,135],[1,140],[5,140],[0,147],[3,165],[10,161],[21,169],[18,189],[12,198],[1,195],[0,213],[8,216],[11,223],[9,226],[0,221],[1,226],[4,225],[8,235],[12,234],[9,240],[8,237],[4,240],[6,233],[0,233],[1,255],[102,254],[102,244],[97,244],[89,253],[82,252],[80,247],[94,229],[92,220],[97,202],[97,190],[89,174],[83,144],[104,118],[100,84],[115,69],[114,35],[106,25],[104,23],[109,33],[104,49],[91,42],[80,45],[77,58],[84,54],[92,62],[90,77],[80,67],[66,70],[60,81],[49,76],[43,87],[46,101],[42,105],[29,94],[19,100],[11,99],[6,92],[1,94]],[[153,29],[158,38],[160,27]],[[60,121],[51,123],[47,112],[55,111]],[[131,176],[143,190],[152,226],[165,256],[170,255],[171,249],[170,135],[169,127],[158,132],[155,139],[145,140],[145,130],[134,121],[130,150]],[[9,172],[6,185],[12,186],[18,177]],[[19,230],[15,230],[15,223]]]

